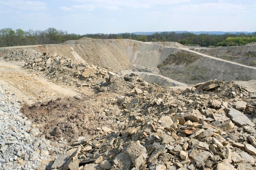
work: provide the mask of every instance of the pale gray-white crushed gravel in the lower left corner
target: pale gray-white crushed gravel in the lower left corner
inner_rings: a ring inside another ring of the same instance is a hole
[[[45,170],[65,152],[63,141],[52,142],[20,113],[15,94],[0,84],[0,169]]]

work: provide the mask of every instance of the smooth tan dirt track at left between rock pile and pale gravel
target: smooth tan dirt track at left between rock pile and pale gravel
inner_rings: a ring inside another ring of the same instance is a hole
[[[0,60],[0,83],[10,93],[27,104],[44,102],[58,97],[80,96],[71,88],[47,81],[39,75],[27,73],[16,64]]]

